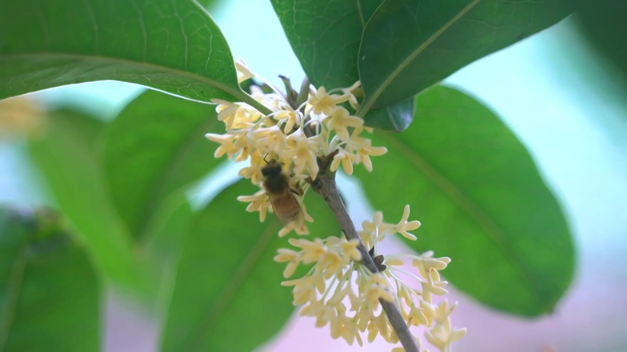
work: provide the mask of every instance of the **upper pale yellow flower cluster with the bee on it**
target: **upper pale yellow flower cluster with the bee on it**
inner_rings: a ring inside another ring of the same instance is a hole
[[[237,62],[236,69],[240,83],[256,77],[244,61]],[[260,212],[260,220],[263,221],[266,213],[272,211],[261,187],[261,170],[270,159],[282,163],[293,184],[303,190],[303,195],[309,188],[305,180],[308,177],[315,180],[318,175],[319,157],[335,153],[330,163],[331,171],[337,170],[341,164],[344,172],[350,175],[353,165],[360,163],[372,171],[370,157],[382,155],[387,150],[372,147],[371,140],[362,137],[364,132],[372,130],[364,127],[361,117],[351,115],[342,106],[348,102],[352,109],[359,108],[354,95],[358,88],[359,81],[351,87],[329,92],[324,87],[316,90],[310,86],[308,100],[295,107],[290,106],[281,93],[266,94],[258,86],[252,86],[253,98],[272,111],[268,115],[246,103],[212,100],[218,104],[218,119],[224,122],[226,129],[223,134],[206,134],[209,140],[220,144],[214,156],[226,155],[236,161],[250,160],[250,166],[242,168],[240,176],[261,188],[255,195],[239,198],[242,202],[250,202],[249,212]],[[342,94],[335,94],[335,91]],[[312,221],[306,213],[304,219]],[[292,229],[298,234],[308,234],[304,222],[288,224],[281,234],[285,235]]]

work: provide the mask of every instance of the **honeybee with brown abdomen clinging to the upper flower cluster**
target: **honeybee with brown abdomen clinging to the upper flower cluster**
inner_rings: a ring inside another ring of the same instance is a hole
[[[270,160],[261,168],[261,174],[264,177],[263,188],[277,217],[285,221],[298,219],[302,210],[295,195],[302,194],[290,187],[290,179],[283,173],[282,165],[277,160]]]

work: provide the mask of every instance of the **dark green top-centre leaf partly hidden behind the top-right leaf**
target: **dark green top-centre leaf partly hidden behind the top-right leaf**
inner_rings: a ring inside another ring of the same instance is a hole
[[[381,2],[271,0],[307,77],[314,86],[327,90],[349,87],[359,80],[357,54],[362,32]],[[372,109],[364,119],[367,126],[401,132],[413,115],[410,98]]]

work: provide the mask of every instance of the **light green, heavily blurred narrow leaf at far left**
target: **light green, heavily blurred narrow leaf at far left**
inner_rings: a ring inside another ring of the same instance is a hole
[[[130,237],[106,187],[100,153],[103,123],[77,111],[50,113],[48,130],[29,152],[54,198],[107,277],[126,289],[147,292],[135,266]],[[139,293],[138,292],[138,293]]]

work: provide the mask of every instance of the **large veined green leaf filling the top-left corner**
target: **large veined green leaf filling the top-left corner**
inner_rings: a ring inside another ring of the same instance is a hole
[[[1,1],[0,67],[0,99],[119,80],[192,100],[247,100],[226,39],[194,0]]]

